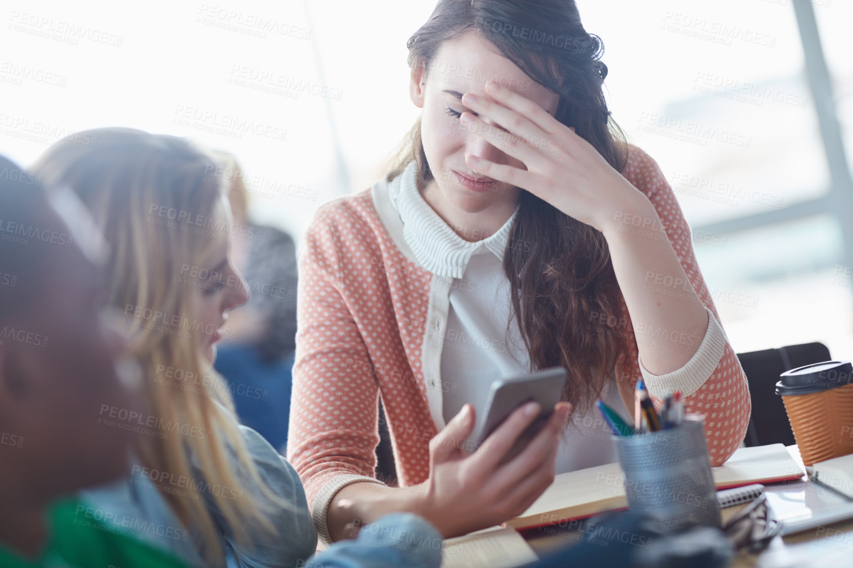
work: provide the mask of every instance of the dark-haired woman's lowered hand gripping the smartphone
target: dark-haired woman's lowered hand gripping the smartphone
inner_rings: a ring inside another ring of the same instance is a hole
[[[430,441],[430,476],[421,488],[420,513],[444,538],[499,525],[524,513],[554,481],[560,431],[572,413],[557,403],[554,414],[531,443],[511,461],[500,464],[521,432],[536,420],[537,403],[526,403],[473,453],[461,450],[474,426],[466,404]]]

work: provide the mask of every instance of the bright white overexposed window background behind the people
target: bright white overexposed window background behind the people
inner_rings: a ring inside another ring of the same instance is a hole
[[[792,1],[578,0],[585,27],[606,47],[614,119],[658,161],[693,227],[828,191]],[[850,160],[853,2],[813,5]],[[3,3],[0,153],[30,165],[62,136],[102,126],[189,136],[234,153],[257,181],[250,190],[291,188],[254,197],[251,212],[299,243],[317,206],[382,175],[415,120],[405,43],[432,7],[432,0]],[[263,32],[258,19],[290,32]],[[241,73],[325,87],[334,98],[252,89],[235,84]],[[207,118],[176,121],[183,114]],[[218,134],[209,131],[214,117],[287,135]],[[668,137],[688,123],[749,147]],[[691,179],[740,197],[719,203],[707,188],[690,194]],[[853,358],[851,282],[835,275],[844,270],[837,217],[717,236],[711,241],[725,237],[724,246],[695,247],[735,351],[821,340],[833,356]]]

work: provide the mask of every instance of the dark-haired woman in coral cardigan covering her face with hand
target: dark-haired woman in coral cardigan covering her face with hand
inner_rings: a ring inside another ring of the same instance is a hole
[[[393,510],[444,536],[510,519],[554,472],[616,461],[590,406],[629,417],[640,379],[705,414],[714,465],[743,439],[746,376],[675,195],[610,118],[602,52],[572,0],[440,0],[409,39],[421,118],[300,258],[287,456],[322,538]],[[535,408],[458,449],[492,380],[558,365],[565,403],[522,454],[499,463]],[[374,478],[380,397],[404,489]]]

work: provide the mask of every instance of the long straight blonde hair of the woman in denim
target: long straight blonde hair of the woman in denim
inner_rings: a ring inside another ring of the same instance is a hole
[[[138,457],[150,471],[191,480],[181,487],[186,496],[159,489],[177,517],[200,530],[205,541],[199,543],[200,554],[211,564],[223,561],[223,550],[207,501],[237,542],[246,544],[251,544],[252,528],[273,530],[268,519],[271,507],[291,507],[259,477],[229,390],[220,388],[226,383],[202,355],[194,333],[188,333],[194,329],[198,333],[197,293],[179,283],[182,273],[187,265],[198,266],[206,252],[227,238],[222,222],[227,208],[217,166],[212,154],[181,138],[107,128],[56,142],[32,168],[47,187],[73,188],[112,245],[105,281],[109,304],[123,310],[134,326],[132,350],[145,373],[154,423],[171,429],[165,437],[156,429],[153,436],[141,436]],[[166,215],[160,217],[163,211]],[[188,215],[194,224],[175,224]],[[159,325],[145,310],[180,323],[177,329]],[[204,378],[213,388],[163,385],[157,377],[165,368],[179,369],[184,377]],[[176,425],[181,435],[175,435]],[[203,479],[194,479],[193,460]]]

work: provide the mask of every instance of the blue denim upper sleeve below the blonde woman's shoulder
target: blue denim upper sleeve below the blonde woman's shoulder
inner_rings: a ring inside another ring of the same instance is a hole
[[[226,535],[229,568],[304,566],[316,551],[317,536],[302,481],[287,460],[258,432],[247,426],[241,426],[241,431],[261,478],[290,507],[272,513],[270,521],[275,531],[271,534],[264,530],[255,531],[251,548],[239,546]]]

